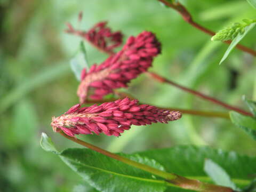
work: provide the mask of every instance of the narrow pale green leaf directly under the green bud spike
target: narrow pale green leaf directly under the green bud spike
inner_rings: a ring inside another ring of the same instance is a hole
[[[244,28],[244,32],[243,34],[239,33],[234,40],[231,42],[231,44],[229,45],[227,51],[225,52],[225,54],[223,55],[221,61],[219,64],[221,64],[223,61],[225,61],[229,55],[229,53],[234,49],[234,47],[245,37],[245,35],[255,26],[255,22],[251,23],[251,25],[246,26]]]

